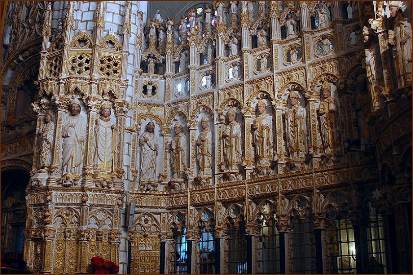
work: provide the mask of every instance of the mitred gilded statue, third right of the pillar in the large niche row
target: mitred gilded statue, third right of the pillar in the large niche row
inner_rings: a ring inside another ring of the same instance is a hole
[[[212,175],[212,132],[208,119],[201,118],[202,132],[197,139],[197,161],[200,175]]]

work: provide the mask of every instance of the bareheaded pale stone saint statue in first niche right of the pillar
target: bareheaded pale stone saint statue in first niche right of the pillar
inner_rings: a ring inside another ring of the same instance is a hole
[[[140,152],[140,183],[156,182],[156,156],[158,155],[158,138],[155,135],[155,123],[150,121],[145,132],[139,137]]]

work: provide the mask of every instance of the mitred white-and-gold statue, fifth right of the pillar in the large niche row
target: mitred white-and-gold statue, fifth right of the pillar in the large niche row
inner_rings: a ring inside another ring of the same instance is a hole
[[[272,117],[265,113],[265,102],[262,100],[257,103],[257,111],[257,118],[252,125],[255,160],[257,165],[269,166],[273,159]]]

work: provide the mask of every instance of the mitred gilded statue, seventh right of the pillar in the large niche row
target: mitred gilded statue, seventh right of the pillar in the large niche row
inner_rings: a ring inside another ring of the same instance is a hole
[[[323,101],[318,107],[318,115],[320,117],[321,141],[323,143],[324,153],[329,154],[335,151],[336,147],[336,130],[337,130],[337,101],[331,97],[331,86],[328,82],[324,82],[321,91],[323,93]]]

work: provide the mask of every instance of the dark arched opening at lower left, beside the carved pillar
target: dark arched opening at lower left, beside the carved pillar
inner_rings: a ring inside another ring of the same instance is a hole
[[[24,269],[23,232],[26,225],[27,171],[1,173],[1,267]]]

